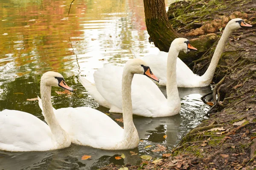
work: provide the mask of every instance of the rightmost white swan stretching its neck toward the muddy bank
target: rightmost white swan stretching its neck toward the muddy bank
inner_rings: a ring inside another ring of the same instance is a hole
[[[177,58],[177,70],[176,70],[177,86],[184,87],[184,88],[195,88],[195,87],[205,87],[210,85],[215,72],[215,68],[218,65],[218,61],[221,57],[221,53],[224,50],[225,44],[228,38],[230,37],[230,34],[232,34],[233,31],[241,27],[252,27],[252,25],[245,23],[244,20],[240,18],[230,20],[227,23],[227,26],[223,31],[223,34],[214,51],[211,63],[207,71],[202,76],[198,76],[197,74],[194,74],[190,70],[190,68],[180,58]],[[140,57],[139,55],[134,53],[134,57],[143,59],[143,61],[148,63],[148,65],[150,66],[151,70],[154,72],[156,77],[159,78],[159,83],[157,83],[157,85],[167,84],[166,61],[167,61],[168,53],[164,51],[159,51],[158,54],[148,54],[144,57]]]

